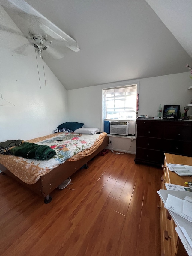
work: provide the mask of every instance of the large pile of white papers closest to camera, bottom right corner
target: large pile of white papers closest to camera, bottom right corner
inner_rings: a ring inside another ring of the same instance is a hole
[[[188,255],[192,256],[192,193],[160,189],[158,194],[177,225],[176,232]]]

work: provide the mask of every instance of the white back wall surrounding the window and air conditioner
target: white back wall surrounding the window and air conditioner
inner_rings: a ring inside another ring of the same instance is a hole
[[[161,77],[151,77],[140,79],[139,92],[139,114],[148,114],[149,117],[157,116],[159,104],[181,105],[181,113],[184,113],[184,106],[191,101],[191,79],[190,72],[172,74]],[[138,81],[127,81],[127,83],[137,83]],[[110,86],[108,86],[110,87]],[[70,121],[83,122],[85,127],[97,127],[102,130],[102,89],[107,85],[90,86],[81,89],[67,91]],[[191,113],[191,110],[189,110]],[[131,139],[114,138],[113,148],[120,151],[127,151],[131,146]],[[129,149],[134,153],[135,141]]]

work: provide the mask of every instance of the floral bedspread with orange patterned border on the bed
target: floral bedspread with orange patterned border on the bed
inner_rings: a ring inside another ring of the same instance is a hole
[[[90,155],[103,142],[107,133],[76,134],[61,132],[28,140],[38,145],[48,145],[56,151],[56,155],[48,160],[25,159],[14,155],[0,155],[0,163],[15,176],[27,184],[34,184],[66,160],[76,161]],[[62,140],[62,141],[57,141]],[[79,154],[80,152],[80,154]]]

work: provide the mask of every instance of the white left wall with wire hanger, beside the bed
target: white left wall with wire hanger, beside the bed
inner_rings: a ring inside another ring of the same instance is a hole
[[[19,31],[2,8],[0,22]],[[67,90],[44,62],[45,86],[42,59],[37,57],[40,88],[35,50],[27,56],[12,52],[22,44],[23,38],[1,32],[0,92],[15,106],[2,106],[7,102],[0,99],[0,141],[51,134],[59,124],[68,121]]]

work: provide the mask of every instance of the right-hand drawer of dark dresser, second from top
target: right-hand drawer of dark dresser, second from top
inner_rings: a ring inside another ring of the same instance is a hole
[[[163,151],[191,157],[191,142],[184,142],[180,140],[163,140]]]

